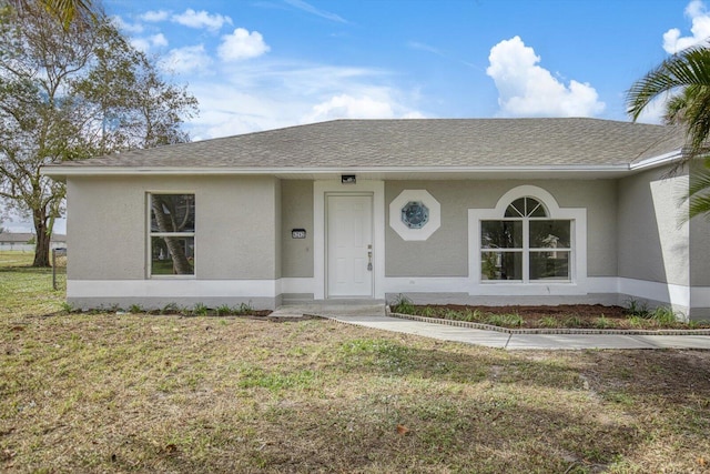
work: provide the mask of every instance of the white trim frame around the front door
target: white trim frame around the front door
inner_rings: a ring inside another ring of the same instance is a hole
[[[327,195],[373,196],[373,299],[385,297],[385,182],[361,180],[356,184],[339,181],[313,182],[313,299],[327,296]]]

